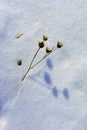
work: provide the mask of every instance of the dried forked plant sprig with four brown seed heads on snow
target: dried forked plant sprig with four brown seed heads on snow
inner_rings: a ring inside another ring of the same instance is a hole
[[[20,36],[19,36],[19,37],[20,37]],[[29,65],[27,71],[25,72],[23,78],[22,78],[22,81],[25,79],[25,77],[27,76],[28,72],[29,72],[32,68],[34,68],[34,67],[35,67],[36,65],[38,65],[41,61],[43,61],[47,56],[49,56],[49,54],[51,54],[52,52],[56,51],[58,48],[61,48],[61,47],[63,46],[63,43],[60,42],[60,41],[58,41],[57,44],[56,44],[56,46],[53,47],[53,48],[50,48],[50,47],[47,47],[47,46],[46,46],[46,48],[45,48],[45,54],[43,55],[43,57],[42,57],[39,61],[37,61],[34,65],[32,65],[34,59],[36,58],[36,56],[37,56],[37,54],[38,54],[38,52],[39,52],[39,50],[45,47],[45,41],[47,41],[47,40],[48,40],[48,36],[43,35],[43,36],[42,36],[42,40],[38,42],[38,49],[37,49],[37,51],[35,52],[35,54],[34,54],[34,56],[33,56],[33,58],[32,58],[32,61],[31,61],[30,65]]]

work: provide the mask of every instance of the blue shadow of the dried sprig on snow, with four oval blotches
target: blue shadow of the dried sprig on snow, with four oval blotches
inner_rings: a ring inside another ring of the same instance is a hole
[[[52,95],[55,98],[58,98],[61,90],[59,90],[56,86],[54,86],[50,75],[50,71],[46,71],[45,70],[46,67],[49,68],[50,70],[53,69],[51,59],[47,59],[46,64],[43,66],[43,68],[38,70],[36,73],[30,75],[28,78],[42,86],[45,86],[47,89],[51,91]],[[67,88],[64,88],[62,93],[65,99],[69,99],[69,91]]]

